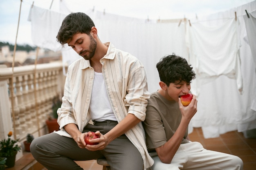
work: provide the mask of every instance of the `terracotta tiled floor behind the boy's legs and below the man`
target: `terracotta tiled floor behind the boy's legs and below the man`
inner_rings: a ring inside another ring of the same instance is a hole
[[[246,139],[241,132],[232,131],[218,138],[204,139],[201,128],[194,128],[189,134],[191,141],[200,142],[204,148],[225,152],[240,157],[244,162],[244,170],[256,170],[256,139]],[[77,162],[84,170],[102,170],[97,161]]]

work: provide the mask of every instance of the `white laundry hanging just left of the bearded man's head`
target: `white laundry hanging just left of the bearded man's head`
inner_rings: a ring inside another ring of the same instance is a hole
[[[56,35],[66,15],[33,6],[29,11],[31,37],[35,46],[52,51],[60,51],[62,46]]]

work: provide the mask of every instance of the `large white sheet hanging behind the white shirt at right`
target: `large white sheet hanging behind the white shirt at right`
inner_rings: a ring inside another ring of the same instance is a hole
[[[250,46],[245,42],[247,35],[243,15],[256,9],[256,1],[240,7],[205,15],[200,18],[207,26],[216,26],[231,18],[240,21],[240,60],[243,75],[243,93],[238,93],[235,79],[221,75],[217,79],[200,86],[198,112],[191,120],[191,126],[202,127],[205,138],[219,137],[231,130],[243,132],[256,128],[256,111],[252,101],[256,99],[256,73]],[[193,21],[191,22],[193,26]],[[255,41],[255,39],[254,39]],[[193,83],[192,83],[193,85]]]

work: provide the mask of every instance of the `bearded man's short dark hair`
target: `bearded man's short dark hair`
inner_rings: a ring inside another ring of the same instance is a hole
[[[57,41],[64,45],[76,33],[86,33],[89,35],[93,26],[95,26],[94,22],[85,13],[70,13],[61,24],[56,37]]]

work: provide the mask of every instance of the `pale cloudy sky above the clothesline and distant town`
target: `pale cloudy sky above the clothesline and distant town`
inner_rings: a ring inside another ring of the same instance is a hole
[[[27,20],[34,2],[37,7],[59,10],[60,0],[0,0],[0,42],[29,44],[31,22]],[[64,0],[70,11],[88,9],[141,19],[195,18],[239,7],[254,0]],[[21,7],[21,8],[20,8]],[[20,20],[19,20],[20,13]],[[18,31],[17,31],[18,30]],[[17,34],[18,33],[18,34]]]

